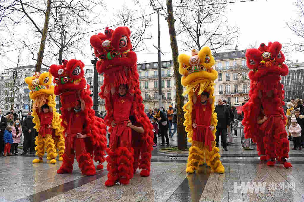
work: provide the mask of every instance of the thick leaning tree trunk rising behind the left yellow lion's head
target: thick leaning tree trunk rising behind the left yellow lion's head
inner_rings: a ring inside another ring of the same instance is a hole
[[[41,36],[41,42],[40,42],[40,48],[38,52],[38,58],[36,63],[36,72],[41,71],[41,64],[43,59],[43,53],[45,48],[45,40],[47,39],[47,29],[49,27],[49,20],[50,20],[50,11],[51,11],[51,0],[47,0],[47,11],[45,13],[45,20],[42,30],[42,36]]]

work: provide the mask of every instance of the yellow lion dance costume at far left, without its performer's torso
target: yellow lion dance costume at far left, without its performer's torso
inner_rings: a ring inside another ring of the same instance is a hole
[[[37,110],[41,108],[42,105],[47,104],[52,108],[53,112],[53,134],[47,134],[42,137],[40,134],[36,137],[35,147],[36,155],[39,159],[34,159],[33,163],[42,162],[42,157],[44,155],[45,148],[47,148],[47,160],[51,160],[50,164],[55,164],[56,157],[59,154],[59,161],[62,161],[62,154],[64,153],[64,137],[63,137],[63,127],[61,126],[60,114],[56,112],[56,102],[54,94],[54,86],[52,84],[52,76],[49,72],[44,72],[40,74],[36,72],[35,75],[25,78],[26,84],[29,87],[29,97],[34,101],[33,103],[33,113],[32,116],[34,124],[37,131],[40,130],[40,119],[37,114]],[[57,154],[58,149],[58,154]]]

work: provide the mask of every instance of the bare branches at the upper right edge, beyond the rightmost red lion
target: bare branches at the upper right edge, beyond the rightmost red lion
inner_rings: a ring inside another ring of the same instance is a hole
[[[298,0],[295,3],[295,7],[298,16],[295,19],[291,19],[289,22],[286,22],[286,25],[295,35],[301,39],[304,39],[304,2],[302,0]],[[289,45],[294,45],[295,51],[304,52],[303,42],[291,41]]]

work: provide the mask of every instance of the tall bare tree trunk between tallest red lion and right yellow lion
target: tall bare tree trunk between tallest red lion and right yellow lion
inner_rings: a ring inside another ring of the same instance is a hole
[[[183,94],[183,86],[181,85],[181,75],[178,72],[179,64],[177,61],[178,57],[178,46],[176,41],[176,32],[174,28],[174,16],[173,16],[173,8],[172,8],[172,0],[167,0],[167,11],[168,11],[168,27],[171,41],[171,49],[172,49],[172,59],[173,59],[173,68],[174,68],[174,76],[175,76],[175,88],[176,88],[176,110],[177,110],[177,142],[179,150],[187,150],[187,134],[184,127],[184,96]]]

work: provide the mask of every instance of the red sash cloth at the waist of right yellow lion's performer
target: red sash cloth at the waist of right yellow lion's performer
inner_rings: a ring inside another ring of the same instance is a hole
[[[202,130],[203,129],[203,130]],[[195,137],[193,140],[204,142],[206,147],[209,147],[209,151],[212,151],[211,142],[214,141],[213,135],[209,126],[206,125],[196,125],[195,127]]]

